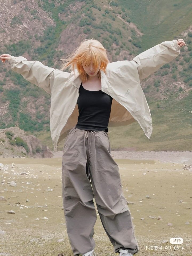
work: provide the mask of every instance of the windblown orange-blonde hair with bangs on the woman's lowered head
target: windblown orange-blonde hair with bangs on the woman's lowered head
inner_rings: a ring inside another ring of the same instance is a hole
[[[94,38],[83,40],[80,46],[68,56],[70,57],[67,59],[61,59],[62,61],[67,62],[62,65],[60,71],[63,71],[67,67],[69,67],[69,70],[75,73],[74,70],[77,68],[82,82],[86,82],[87,78],[89,77],[89,75],[83,69],[82,63],[85,63],[85,65],[89,65],[91,62],[93,62],[95,69],[97,70],[101,61],[101,66],[98,71],[99,79],[101,79],[100,70],[103,70],[106,74],[106,67],[109,63],[106,49],[98,40],[95,40]]]

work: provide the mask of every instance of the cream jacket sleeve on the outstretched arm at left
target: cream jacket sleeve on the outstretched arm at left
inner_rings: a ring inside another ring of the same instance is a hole
[[[51,94],[50,79],[54,78],[54,68],[47,67],[39,61],[27,61],[22,56],[14,57],[12,55],[7,62],[11,64],[13,71]]]

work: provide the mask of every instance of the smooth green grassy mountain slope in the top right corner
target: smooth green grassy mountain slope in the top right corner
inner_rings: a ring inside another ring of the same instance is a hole
[[[178,36],[192,23],[190,0],[118,0],[117,2],[121,7],[129,10],[131,21],[142,29],[144,33],[140,38],[142,50],[163,41],[179,39]]]

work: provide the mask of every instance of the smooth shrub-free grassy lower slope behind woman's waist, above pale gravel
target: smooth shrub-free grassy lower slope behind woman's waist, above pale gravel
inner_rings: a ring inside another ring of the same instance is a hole
[[[150,141],[144,135],[138,122],[128,126],[108,127],[111,150],[135,147],[137,151],[192,151],[192,90],[184,99],[176,100],[177,95],[161,102],[148,101],[151,110],[153,133]],[[162,108],[161,108],[162,107]],[[50,131],[35,134],[53,151]],[[59,143],[63,150],[65,139]]]

